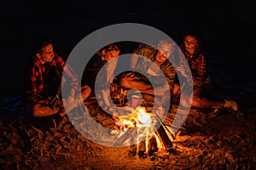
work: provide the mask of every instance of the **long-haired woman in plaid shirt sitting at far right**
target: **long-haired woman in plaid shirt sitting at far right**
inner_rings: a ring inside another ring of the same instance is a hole
[[[184,107],[189,107],[189,99],[191,99],[192,106],[195,107],[226,107],[234,111],[238,110],[238,105],[233,100],[212,99],[212,82],[207,75],[207,60],[203,53],[203,45],[201,37],[196,32],[188,32],[183,37],[183,44],[180,46],[185,58],[188,60],[189,67],[192,73],[192,80],[194,85],[194,93],[182,93],[183,100],[180,101]],[[177,68],[177,71],[183,75],[183,72]],[[183,75],[187,77],[187,75]],[[180,94],[180,86],[175,83],[173,94]]]

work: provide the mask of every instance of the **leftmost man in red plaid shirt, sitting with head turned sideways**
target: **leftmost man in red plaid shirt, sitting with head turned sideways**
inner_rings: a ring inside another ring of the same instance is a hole
[[[51,116],[54,114],[65,115],[61,100],[53,108],[49,107],[49,97],[54,97],[61,84],[61,77],[65,77],[65,84],[71,88],[67,99],[68,111],[78,105],[79,97],[84,100],[90,95],[90,87],[81,87],[81,96],[76,95],[78,78],[73,70],[65,65],[65,61],[55,54],[53,43],[49,38],[41,37],[33,43],[33,56],[27,83],[28,107],[32,116]],[[60,95],[60,94],[58,94]],[[58,96],[60,97],[60,96]]]

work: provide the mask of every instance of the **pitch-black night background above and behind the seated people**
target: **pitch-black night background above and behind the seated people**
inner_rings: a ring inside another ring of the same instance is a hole
[[[200,30],[212,68],[256,82],[254,8],[255,3],[245,1],[5,1],[0,10],[0,96],[21,94],[34,38],[51,37],[55,51],[67,59],[91,32],[125,22],[154,26],[177,44],[184,31]]]

